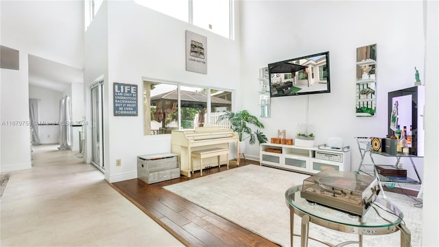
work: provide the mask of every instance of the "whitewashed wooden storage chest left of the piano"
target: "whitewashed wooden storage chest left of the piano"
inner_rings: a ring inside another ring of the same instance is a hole
[[[137,156],[137,178],[148,185],[180,178],[178,155],[164,153]]]

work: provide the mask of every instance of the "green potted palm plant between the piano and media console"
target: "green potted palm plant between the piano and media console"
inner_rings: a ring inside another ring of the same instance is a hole
[[[238,135],[239,153],[244,154],[246,139],[248,139],[250,145],[253,145],[256,141],[258,143],[267,142],[267,137],[261,131],[264,128],[263,124],[257,117],[251,115],[248,110],[241,110],[237,113],[226,111],[226,113],[218,117],[217,121],[224,119],[230,121],[230,128]],[[256,128],[256,130],[253,130],[251,127]]]

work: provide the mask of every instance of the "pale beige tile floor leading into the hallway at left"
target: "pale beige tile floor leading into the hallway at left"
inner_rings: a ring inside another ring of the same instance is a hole
[[[0,246],[183,246],[78,152],[57,147],[34,146],[32,169],[11,173]]]

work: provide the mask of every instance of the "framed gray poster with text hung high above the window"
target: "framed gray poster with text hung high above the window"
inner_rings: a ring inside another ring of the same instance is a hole
[[[207,37],[187,30],[186,70],[207,73]]]

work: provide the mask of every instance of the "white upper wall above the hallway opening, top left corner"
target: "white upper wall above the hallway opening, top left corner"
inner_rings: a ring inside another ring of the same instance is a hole
[[[1,44],[82,68],[82,1],[1,1]]]

